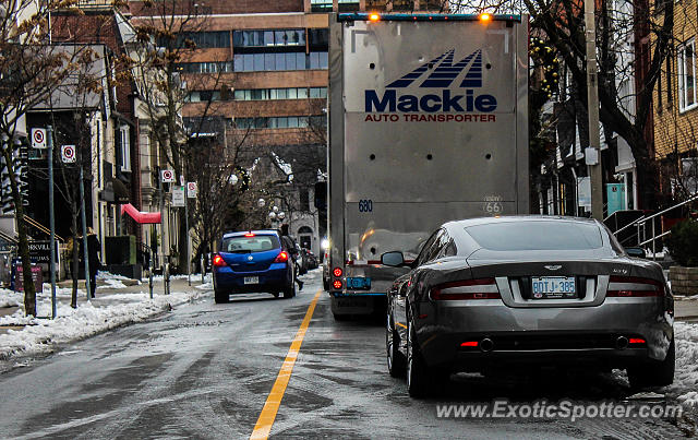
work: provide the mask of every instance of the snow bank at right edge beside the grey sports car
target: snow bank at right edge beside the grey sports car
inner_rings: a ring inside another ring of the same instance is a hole
[[[671,389],[677,392],[698,390],[698,324],[674,323],[676,341],[676,372]],[[689,391],[677,400],[688,406],[698,406],[698,392]]]

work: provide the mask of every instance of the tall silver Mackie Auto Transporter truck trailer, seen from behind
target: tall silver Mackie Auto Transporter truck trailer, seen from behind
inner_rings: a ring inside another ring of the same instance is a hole
[[[330,15],[326,285],[337,319],[385,304],[446,221],[529,212],[528,17]]]

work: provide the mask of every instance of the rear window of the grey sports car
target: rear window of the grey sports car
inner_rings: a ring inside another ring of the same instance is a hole
[[[495,251],[591,250],[603,247],[594,224],[577,222],[503,222],[466,227],[483,248]]]

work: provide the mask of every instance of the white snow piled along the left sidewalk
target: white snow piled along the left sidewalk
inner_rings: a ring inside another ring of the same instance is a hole
[[[1,317],[0,325],[25,325],[22,330],[8,330],[0,334],[0,359],[16,355],[33,355],[51,352],[56,345],[85,338],[124,324],[144,321],[154,314],[191,301],[204,295],[198,289],[156,295],[151,299],[145,293],[115,293],[98,295],[93,302],[80,302],[76,309],[70,307],[70,289],[57,289],[57,316],[55,320],[27,318],[20,309],[14,314]],[[65,292],[63,292],[65,290]],[[84,298],[84,292],[79,290]],[[1,301],[22,305],[21,294],[0,292]],[[19,302],[19,304],[17,304]],[[37,314],[51,313],[50,288],[37,297]]]

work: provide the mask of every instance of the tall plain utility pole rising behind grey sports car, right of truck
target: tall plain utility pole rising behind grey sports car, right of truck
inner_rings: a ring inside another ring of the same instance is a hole
[[[589,148],[586,152],[591,179],[591,215],[603,221],[603,176],[599,134],[599,69],[597,67],[597,24],[594,0],[585,0],[587,29],[587,112],[589,114]],[[591,154],[590,154],[591,153]],[[594,157],[595,156],[595,160]]]

